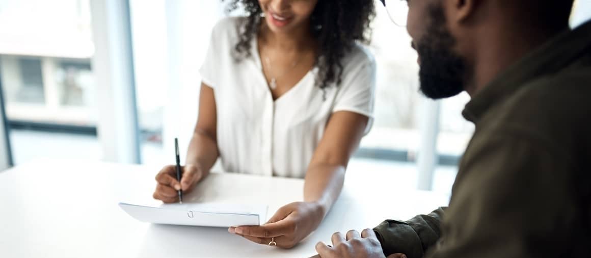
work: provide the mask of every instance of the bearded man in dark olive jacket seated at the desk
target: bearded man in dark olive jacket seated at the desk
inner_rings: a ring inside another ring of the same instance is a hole
[[[408,1],[421,91],[472,96],[450,206],[335,233],[320,256],[591,257],[591,22],[570,30],[572,3]]]

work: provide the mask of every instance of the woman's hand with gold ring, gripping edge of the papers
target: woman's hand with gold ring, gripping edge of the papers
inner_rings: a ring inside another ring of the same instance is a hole
[[[291,248],[316,230],[323,218],[320,204],[293,202],[275,212],[267,224],[230,227],[228,231],[258,244],[275,241],[278,247]]]

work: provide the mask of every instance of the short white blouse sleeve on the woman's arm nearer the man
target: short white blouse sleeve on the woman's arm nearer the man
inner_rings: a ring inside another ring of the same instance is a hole
[[[376,64],[367,50],[358,46],[357,53],[349,60],[343,70],[343,79],[335,98],[332,112],[349,111],[369,118],[365,134],[374,123],[374,93]]]

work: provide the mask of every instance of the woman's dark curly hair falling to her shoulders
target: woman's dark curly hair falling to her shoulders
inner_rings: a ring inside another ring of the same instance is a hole
[[[235,50],[242,56],[250,56],[252,37],[256,37],[263,20],[262,9],[258,0],[229,0],[228,11],[239,7],[246,11],[248,18]],[[324,90],[330,83],[340,85],[343,57],[352,49],[355,41],[369,43],[369,25],[374,17],[374,0],[318,1],[310,17],[310,30],[319,46],[316,86]]]

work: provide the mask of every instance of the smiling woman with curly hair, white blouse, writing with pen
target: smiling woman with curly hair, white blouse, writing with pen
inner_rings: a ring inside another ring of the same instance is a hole
[[[367,41],[373,0],[233,0],[248,17],[213,29],[200,69],[199,118],[181,182],[174,166],[154,198],[178,201],[220,157],[223,169],[304,178],[304,201],[268,224],[232,227],[255,243],[290,248],[315,230],[339,196],[349,157],[371,128],[375,63]],[[274,243],[273,243],[274,244]]]

